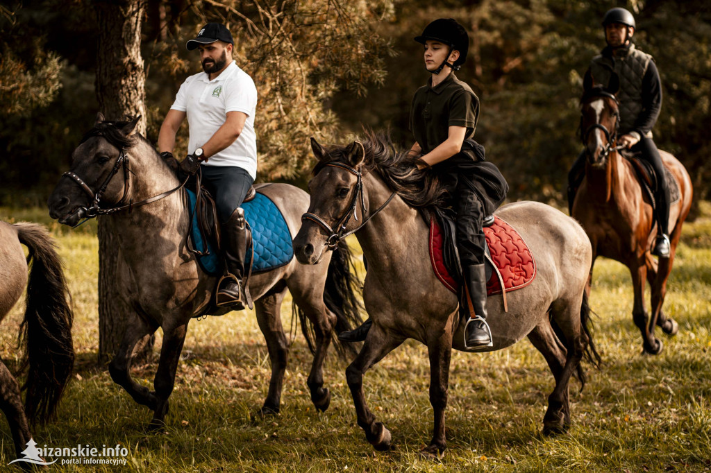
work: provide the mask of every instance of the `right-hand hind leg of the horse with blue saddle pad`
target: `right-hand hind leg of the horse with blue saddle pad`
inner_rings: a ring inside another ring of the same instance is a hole
[[[324,278],[326,275],[324,274]],[[310,283],[304,286],[301,283],[289,284],[289,290],[294,298],[294,303],[303,311],[305,317],[314,327],[315,342],[313,344],[314,361],[311,363],[309,378],[306,385],[309,386],[311,402],[319,411],[326,411],[331,404],[331,392],[324,388],[324,360],[328,345],[331,344],[332,332],[336,327],[336,315],[333,314],[326,304],[324,304],[323,284]],[[317,290],[320,288],[321,290]],[[308,337],[307,327],[304,327],[306,320],[301,320],[301,329]]]

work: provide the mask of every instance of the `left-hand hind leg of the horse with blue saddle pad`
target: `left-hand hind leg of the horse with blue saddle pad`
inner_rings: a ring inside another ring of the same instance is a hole
[[[267,342],[269,361],[272,364],[272,377],[269,379],[269,392],[264,399],[264,406],[257,415],[264,417],[279,413],[282,402],[282,386],[284,385],[284,372],[287,371],[289,357],[289,342],[284,335],[282,327],[282,300],[286,288],[281,291],[267,293],[255,302],[257,323],[262,330],[262,335]]]

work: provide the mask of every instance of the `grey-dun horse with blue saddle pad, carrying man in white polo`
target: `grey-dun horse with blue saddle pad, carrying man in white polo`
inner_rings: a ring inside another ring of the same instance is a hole
[[[87,214],[92,202],[100,200],[101,207],[106,209],[100,218],[109,220],[122,265],[129,273],[117,281],[118,290],[125,295],[129,306],[135,308],[126,314],[127,331],[109,364],[109,372],[134,401],[154,411],[150,427],[161,428],[169,408],[188,322],[208,310],[218,280],[205,273],[195,255],[188,251],[188,195],[184,190],[166,191],[180,186],[178,178],[154,146],[134,133],[137,120],[105,121],[99,114],[94,128],[73,152],[71,170],[60,178],[48,205],[51,217],[70,226],[77,224],[82,214]],[[79,180],[84,185],[77,185]],[[256,187],[257,192],[277,205],[293,237],[300,216],[308,207],[309,196],[287,184]],[[164,191],[165,194],[161,194]],[[164,198],[151,200],[158,195]],[[146,200],[150,204],[141,205]],[[128,212],[120,210],[124,202],[136,203]],[[117,209],[120,211],[114,212]],[[257,322],[267,341],[272,364],[269,391],[258,412],[260,415],[278,413],[280,408],[289,352],[280,314],[287,288],[298,307],[301,329],[314,352],[306,380],[311,401],[320,411],[328,408],[331,393],[324,388],[322,366],[333,330],[343,330],[360,320],[350,256],[343,247],[337,253],[318,266],[303,266],[292,259],[284,266],[252,274],[249,278]],[[228,310],[210,313],[222,315],[225,312]],[[305,319],[313,324],[313,329],[305,327]],[[163,330],[163,343],[154,391],[149,391],[132,379],[132,352],[139,340],[153,334],[158,327]],[[309,339],[311,330],[315,342]]]

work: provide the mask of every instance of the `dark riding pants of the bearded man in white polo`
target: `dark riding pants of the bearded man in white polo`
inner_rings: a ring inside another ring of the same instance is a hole
[[[201,166],[202,184],[215,199],[221,224],[228,222],[237,207],[242,205],[254,182],[250,173],[237,166]],[[195,177],[188,180],[188,188],[195,185]]]

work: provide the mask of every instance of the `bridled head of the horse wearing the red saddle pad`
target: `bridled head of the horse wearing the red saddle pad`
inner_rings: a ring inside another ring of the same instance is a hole
[[[355,232],[367,212],[363,144],[353,141],[348,146],[327,149],[311,138],[311,150],[319,161],[309,181],[311,203],[293,242],[296,259],[304,264],[321,261],[324,249],[336,248],[340,239]]]

